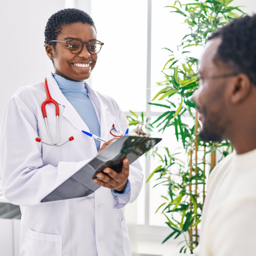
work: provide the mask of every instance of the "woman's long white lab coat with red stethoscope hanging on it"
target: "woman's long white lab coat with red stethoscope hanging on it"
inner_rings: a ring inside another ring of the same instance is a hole
[[[40,201],[97,154],[94,140],[81,131],[88,127],[61,93],[52,73],[47,76],[50,94],[60,106],[61,147],[48,141],[41,105],[44,83],[21,87],[8,101],[0,132],[0,162],[4,196],[20,205],[20,256],[130,256],[130,242],[122,208],[138,196],[143,174],[138,161],[130,165],[131,192],[114,196],[100,187],[92,195],[49,203]],[[113,123],[122,131],[126,117],[116,102],[88,85],[100,122],[101,137],[112,139]],[[57,138],[55,106],[46,105],[52,141]],[[103,144],[103,143],[102,143]],[[101,144],[101,146],[102,146]]]

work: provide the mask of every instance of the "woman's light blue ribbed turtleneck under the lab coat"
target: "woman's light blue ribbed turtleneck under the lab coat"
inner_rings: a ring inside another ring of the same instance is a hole
[[[53,74],[53,77],[59,85],[60,91],[67,98],[67,100],[76,109],[79,116],[83,119],[84,123],[88,126],[91,133],[100,137],[100,123],[93,107],[92,101],[88,96],[88,90],[84,86],[85,82],[74,82],[65,79],[62,76]],[[94,140],[97,151],[100,149],[100,141]],[[120,194],[111,189],[112,194],[116,196],[125,195],[131,191],[131,185],[128,180],[126,188]]]

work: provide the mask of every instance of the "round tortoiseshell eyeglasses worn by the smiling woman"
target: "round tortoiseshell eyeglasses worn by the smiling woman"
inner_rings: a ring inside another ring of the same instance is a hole
[[[100,52],[100,49],[103,45],[103,43],[101,43],[98,40],[92,40],[89,43],[82,42],[80,39],[72,39],[69,41],[52,40],[49,43],[51,42],[60,42],[68,44],[69,51],[74,54],[82,52],[84,49],[84,44],[86,44],[88,52],[90,52],[91,54],[97,54]]]

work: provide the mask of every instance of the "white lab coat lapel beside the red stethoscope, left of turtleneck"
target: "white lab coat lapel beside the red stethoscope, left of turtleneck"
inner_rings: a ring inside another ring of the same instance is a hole
[[[76,109],[67,100],[67,98],[60,91],[52,72],[47,76],[48,88],[53,100],[56,100],[59,105],[64,106],[63,116],[80,132],[82,130],[90,132],[88,126],[84,123],[83,119],[76,112]]]

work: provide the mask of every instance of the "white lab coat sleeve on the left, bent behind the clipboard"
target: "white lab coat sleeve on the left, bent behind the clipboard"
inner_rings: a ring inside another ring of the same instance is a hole
[[[41,144],[35,141],[37,120],[20,99],[6,104],[0,130],[2,189],[12,204],[35,205],[90,159],[43,166]]]

